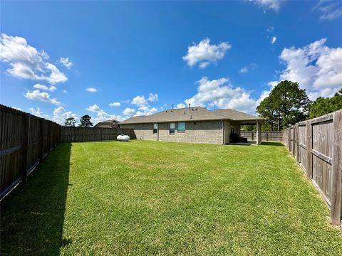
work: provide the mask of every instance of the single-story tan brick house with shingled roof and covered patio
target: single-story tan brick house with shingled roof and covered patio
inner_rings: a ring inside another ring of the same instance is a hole
[[[207,110],[205,107],[189,106],[130,117],[120,122],[120,127],[134,129],[137,139],[228,144],[230,134],[240,134],[240,125],[257,124],[257,144],[260,144],[261,121],[260,117],[237,110]]]

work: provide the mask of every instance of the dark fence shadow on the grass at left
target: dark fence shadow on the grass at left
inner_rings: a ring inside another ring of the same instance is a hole
[[[1,202],[1,255],[59,255],[69,181],[71,143],[56,147]]]

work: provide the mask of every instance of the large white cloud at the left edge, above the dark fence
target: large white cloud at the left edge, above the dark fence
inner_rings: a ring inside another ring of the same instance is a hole
[[[55,65],[47,63],[44,51],[29,46],[26,39],[19,36],[1,34],[0,60],[9,64],[7,73],[16,78],[46,80],[51,84],[66,82],[68,78]]]

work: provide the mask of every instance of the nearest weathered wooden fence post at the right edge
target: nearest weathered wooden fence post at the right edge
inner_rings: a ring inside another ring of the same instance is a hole
[[[342,110],[333,112],[333,157],[331,161],[331,221],[341,222]]]

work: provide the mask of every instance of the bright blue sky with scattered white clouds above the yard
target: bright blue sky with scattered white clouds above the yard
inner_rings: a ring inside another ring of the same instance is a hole
[[[1,104],[96,123],[188,103],[253,114],[284,79],[328,97],[341,25],[341,1],[1,1]]]

